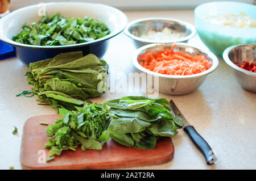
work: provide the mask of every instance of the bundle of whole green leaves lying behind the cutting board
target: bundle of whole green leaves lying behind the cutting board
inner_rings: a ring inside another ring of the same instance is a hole
[[[86,98],[100,96],[108,90],[102,73],[108,73],[108,64],[94,54],[82,52],[61,53],[53,58],[34,62],[27,71],[28,84],[38,101],[52,107],[74,110],[82,107]],[[101,90],[98,91],[98,86]]]

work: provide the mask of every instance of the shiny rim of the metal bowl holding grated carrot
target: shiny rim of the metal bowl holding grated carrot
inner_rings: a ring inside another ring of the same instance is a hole
[[[141,66],[138,62],[138,55],[141,54],[141,52],[147,48],[151,48],[151,47],[156,47],[158,45],[163,45],[163,44],[149,44],[149,45],[144,45],[141,48],[138,48],[137,50],[135,50],[133,56],[131,57],[131,61],[133,62],[133,65],[135,66],[135,68],[137,68],[138,70],[143,71],[144,73],[156,76],[156,77],[162,77],[162,78],[170,78],[170,79],[189,79],[189,78],[199,78],[199,77],[203,77],[207,74],[212,73],[214,70],[216,70],[218,68],[218,58],[209,50],[205,50],[199,47],[195,47],[193,45],[190,45],[188,43],[175,43],[175,45],[183,45],[185,47],[188,48],[196,48],[199,49],[201,52],[205,53],[213,62],[212,66],[208,69],[205,70],[201,73],[198,74],[193,74],[193,75],[166,75],[166,74],[160,74],[160,73],[155,73],[154,71],[150,71],[146,68],[143,68],[143,66]],[[165,44],[167,45],[167,44]]]

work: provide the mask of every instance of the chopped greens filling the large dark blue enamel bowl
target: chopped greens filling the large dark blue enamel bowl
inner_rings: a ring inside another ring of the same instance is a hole
[[[13,37],[14,41],[41,46],[85,43],[110,33],[109,28],[98,20],[87,17],[65,19],[59,12],[52,17],[44,16],[39,23],[25,23],[22,28],[23,31]]]

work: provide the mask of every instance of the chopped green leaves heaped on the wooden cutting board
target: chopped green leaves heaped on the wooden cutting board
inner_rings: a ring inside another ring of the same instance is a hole
[[[75,111],[60,108],[62,119],[47,127],[48,142],[44,145],[51,148],[49,156],[60,155],[63,150],[101,150],[100,141],[105,140],[106,129],[110,121],[108,108],[102,104],[86,103],[84,107],[76,107]]]

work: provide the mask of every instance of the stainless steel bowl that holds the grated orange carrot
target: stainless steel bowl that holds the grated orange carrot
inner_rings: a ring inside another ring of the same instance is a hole
[[[212,61],[212,66],[201,73],[193,74],[193,75],[166,75],[166,74],[159,74],[155,73],[154,71],[150,71],[146,68],[143,68],[138,62],[138,56],[145,52],[158,52],[159,50],[170,49],[172,44],[150,44],[145,45],[135,51],[132,57],[132,62],[135,68],[144,72],[146,74],[152,75],[156,77],[156,80],[153,81],[152,85],[155,91],[162,92],[168,95],[183,95],[188,94],[192,91],[195,91],[201,84],[205,81],[205,78],[208,74],[212,73],[218,67],[218,58],[210,51],[203,50],[197,47],[193,47],[187,43],[175,43],[177,47],[174,48],[176,51],[189,53],[193,55],[197,54],[205,54],[208,60]],[[156,83],[158,85],[156,85]]]

